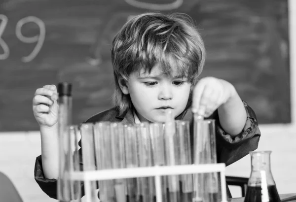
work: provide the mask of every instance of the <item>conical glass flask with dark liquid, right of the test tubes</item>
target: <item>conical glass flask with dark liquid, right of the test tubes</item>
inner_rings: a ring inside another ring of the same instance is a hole
[[[270,170],[271,151],[250,152],[252,171],[245,202],[280,202]]]

